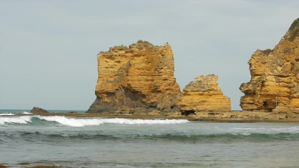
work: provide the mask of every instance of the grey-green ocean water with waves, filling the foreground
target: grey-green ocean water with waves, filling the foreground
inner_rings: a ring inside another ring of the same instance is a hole
[[[12,167],[299,167],[299,123],[0,113],[0,163]]]

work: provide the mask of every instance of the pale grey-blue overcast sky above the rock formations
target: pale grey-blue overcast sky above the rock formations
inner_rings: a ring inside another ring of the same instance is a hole
[[[216,74],[240,110],[251,55],[273,49],[298,17],[299,1],[0,0],[0,109],[87,110],[97,54],[142,39],[171,45],[181,90]]]

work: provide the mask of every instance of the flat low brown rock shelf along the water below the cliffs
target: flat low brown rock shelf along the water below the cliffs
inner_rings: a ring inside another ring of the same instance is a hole
[[[291,112],[195,112],[189,115],[181,115],[180,112],[169,112],[164,114],[116,114],[116,113],[33,113],[41,116],[65,116],[65,117],[106,117],[127,119],[186,119],[189,121],[202,122],[294,122],[299,123],[299,114]],[[14,116],[27,116],[28,114],[15,114]],[[32,115],[32,114],[30,114]]]

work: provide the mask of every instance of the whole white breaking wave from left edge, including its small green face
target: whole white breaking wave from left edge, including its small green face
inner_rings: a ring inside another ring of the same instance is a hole
[[[84,127],[88,125],[112,124],[179,124],[189,122],[186,119],[126,119],[126,118],[68,118],[65,116],[20,116],[0,117],[0,124],[5,123],[41,123],[41,120],[54,121],[70,127]]]

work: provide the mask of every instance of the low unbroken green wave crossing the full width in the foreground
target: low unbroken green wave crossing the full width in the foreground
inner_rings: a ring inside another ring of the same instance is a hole
[[[46,133],[46,132],[1,132],[0,137],[6,136],[9,139],[23,139],[25,141],[89,141],[89,140],[119,140],[119,141],[176,141],[176,142],[201,142],[201,143],[218,143],[218,142],[269,142],[269,141],[297,141],[299,134],[278,133],[278,134],[94,134],[90,133]],[[0,138],[1,140],[1,138]],[[1,144],[1,142],[0,142]]]

